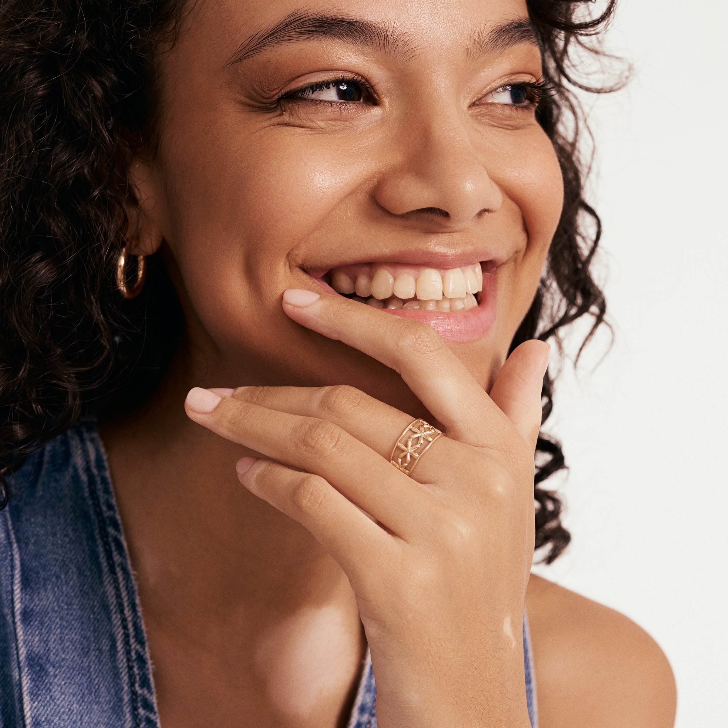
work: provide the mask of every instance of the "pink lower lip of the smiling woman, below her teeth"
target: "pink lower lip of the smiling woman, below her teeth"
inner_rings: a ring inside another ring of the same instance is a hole
[[[327,293],[341,296],[330,285],[320,279],[314,279],[323,285]],[[442,313],[439,311],[411,311],[409,309],[377,309],[387,314],[402,318],[422,321],[437,331],[449,344],[464,344],[467,341],[477,341],[484,336],[496,320],[496,296],[494,275],[483,275],[483,290],[478,295],[478,306],[467,311],[453,311]],[[341,296],[345,298],[345,296]],[[361,304],[365,306],[366,304]]]

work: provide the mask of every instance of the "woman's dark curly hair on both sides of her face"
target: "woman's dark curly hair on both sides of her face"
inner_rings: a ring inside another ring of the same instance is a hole
[[[604,321],[590,266],[601,226],[583,194],[582,114],[574,52],[601,54],[594,37],[616,0],[587,15],[579,0],[528,0],[553,92],[537,118],[565,186],[545,274],[511,348],[585,314],[587,340]],[[0,507],[7,476],[84,413],[119,411],[156,386],[182,338],[181,309],[164,264],[151,260],[141,296],[124,301],[116,261],[135,204],[126,162],[154,143],[156,63],[175,41],[181,0],[0,0]],[[155,256],[157,257],[157,256]],[[582,344],[583,346],[583,344]],[[132,395],[130,396],[130,392]],[[123,395],[123,396],[122,396]],[[543,419],[553,376],[543,384]],[[534,484],[536,548],[553,561],[569,543],[561,501],[542,483],[565,467],[542,435]]]

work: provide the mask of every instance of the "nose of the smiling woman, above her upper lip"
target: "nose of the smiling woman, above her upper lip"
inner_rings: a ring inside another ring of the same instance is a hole
[[[440,119],[437,127],[430,124],[411,135],[404,149],[373,191],[376,202],[392,215],[435,216],[440,224],[455,227],[503,204],[462,120],[446,125]]]

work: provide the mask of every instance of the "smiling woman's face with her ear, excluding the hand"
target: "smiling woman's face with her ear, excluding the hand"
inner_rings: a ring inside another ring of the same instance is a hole
[[[563,197],[523,0],[204,0],[160,76],[134,170],[205,386],[347,383],[414,411],[284,314],[285,289],[331,286],[402,305],[381,315],[427,321],[489,386]]]

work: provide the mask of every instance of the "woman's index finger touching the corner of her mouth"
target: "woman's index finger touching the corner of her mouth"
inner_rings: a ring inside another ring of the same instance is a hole
[[[290,318],[394,369],[446,428],[448,437],[494,446],[499,440],[496,433],[513,427],[431,326],[343,296],[312,298],[316,294],[311,291],[305,292],[308,296],[300,293],[283,294],[283,310]]]

